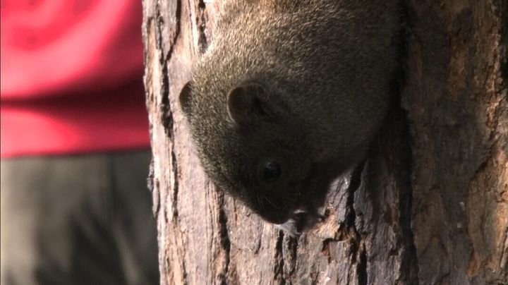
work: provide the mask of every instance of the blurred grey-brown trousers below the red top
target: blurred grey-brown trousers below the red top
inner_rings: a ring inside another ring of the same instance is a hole
[[[1,284],[158,284],[150,152],[1,161]]]

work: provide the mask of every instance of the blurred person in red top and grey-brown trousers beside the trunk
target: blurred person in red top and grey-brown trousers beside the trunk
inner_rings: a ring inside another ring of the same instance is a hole
[[[158,284],[139,0],[1,0],[1,284]]]

